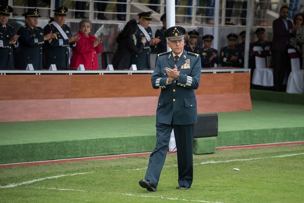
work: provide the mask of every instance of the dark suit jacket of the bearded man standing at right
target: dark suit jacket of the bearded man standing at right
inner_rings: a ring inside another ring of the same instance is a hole
[[[289,44],[290,33],[289,29],[292,28],[292,21],[287,19],[288,30],[280,17],[275,19],[272,23],[273,38],[271,44],[271,50],[284,51]]]

